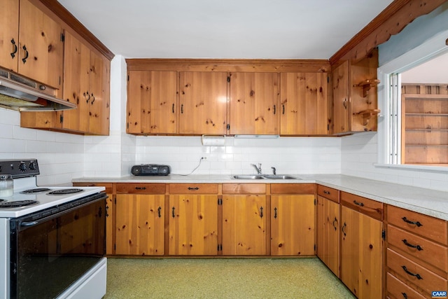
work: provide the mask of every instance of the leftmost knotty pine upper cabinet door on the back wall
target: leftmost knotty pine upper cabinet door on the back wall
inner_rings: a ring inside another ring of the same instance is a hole
[[[176,133],[176,71],[129,71],[127,133]]]

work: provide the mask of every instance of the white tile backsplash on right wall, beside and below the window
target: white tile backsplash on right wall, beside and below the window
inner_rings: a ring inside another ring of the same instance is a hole
[[[376,167],[377,133],[342,137],[341,173],[378,181],[448,191],[448,172],[423,169]]]

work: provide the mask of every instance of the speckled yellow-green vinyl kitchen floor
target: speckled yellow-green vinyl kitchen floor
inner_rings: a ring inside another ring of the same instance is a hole
[[[112,298],[355,298],[318,258],[108,258]]]

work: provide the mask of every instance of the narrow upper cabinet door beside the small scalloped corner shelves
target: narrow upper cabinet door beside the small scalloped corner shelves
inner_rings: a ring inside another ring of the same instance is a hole
[[[349,61],[332,71],[333,82],[333,133],[349,132],[350,97],[349,97]]]

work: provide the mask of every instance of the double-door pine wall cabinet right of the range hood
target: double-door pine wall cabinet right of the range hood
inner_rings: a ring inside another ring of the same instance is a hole
[[[109,134],[109,60],[65,32],[64,92],[77,109],[63,111],[62,128],[85,134]]]

